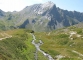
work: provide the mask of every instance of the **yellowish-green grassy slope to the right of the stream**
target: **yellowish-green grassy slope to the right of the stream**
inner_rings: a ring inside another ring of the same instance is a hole
[[[69,38],[70,31],[77,32],[81,37],[73,35],[73,40],[71,40]],[[61,60],[81,60],[83,59],[83,56],[79,56],[79,54],[72,52],[72,50],[83,54],[82,31],[82,28],[69,27],[67,29],[59,29],[50,33],[35,33],[35,35],[38,40],[41,39],[44,42],[41,49],[51,54],[54,59],[56,59],[56,55],[62,55],[65,57]]]

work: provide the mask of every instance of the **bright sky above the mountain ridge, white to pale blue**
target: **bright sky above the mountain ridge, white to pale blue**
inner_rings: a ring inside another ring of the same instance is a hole
[[[20,11],[26,6],[33,4],[46,3],[50,0],[0,0],[0,9],[8,11]],[[51,0],[57,7],[69,10],[83,12],[83,0]]]

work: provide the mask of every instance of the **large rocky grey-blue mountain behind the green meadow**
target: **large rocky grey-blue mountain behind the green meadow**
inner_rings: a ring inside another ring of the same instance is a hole
[[[51,31],[83,22],[83,13],[60,9],[49,1],[27,6],[19,12],[0,10],[0,21],[6,30],[27,28],[34,31]]]

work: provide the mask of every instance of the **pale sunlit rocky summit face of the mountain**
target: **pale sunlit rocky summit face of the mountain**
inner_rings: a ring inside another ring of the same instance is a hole
[[[44,4],[41,4],[40,7],[38,9],[36,9],[35,11],[37,11],[38,14],[45,15],[46,12],[51,10],[53,7],[56,8],[56,5],[53,2],[48,1]]]

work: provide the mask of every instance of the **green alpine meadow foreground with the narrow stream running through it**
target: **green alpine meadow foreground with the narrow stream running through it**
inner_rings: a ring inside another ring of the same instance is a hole
[[[12,37],[4,37],[0,41],[0,59],[83,60],[82,31],[75,26],[51,32],[34,32],[35,36],[26,29],[5,31]]]

